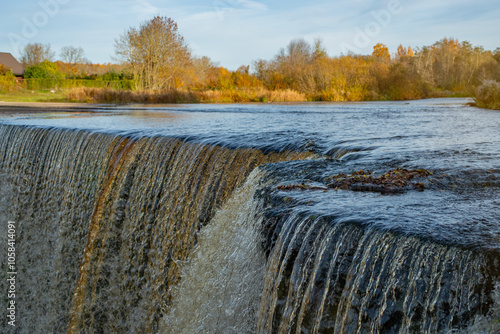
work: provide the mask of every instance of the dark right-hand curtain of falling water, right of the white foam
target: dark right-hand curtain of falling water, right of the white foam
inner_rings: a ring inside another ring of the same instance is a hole
[[[500,329],[498,254],[307,213],[266,224],[258,333],[467,333],[479,322],[484,333]]]

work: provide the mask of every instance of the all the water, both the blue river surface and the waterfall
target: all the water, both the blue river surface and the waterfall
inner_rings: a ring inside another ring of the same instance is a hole
[[[500,117],[419,103],[1,120],[0,331],[500,333]],[[328,187],[367,166],[432,173]]]

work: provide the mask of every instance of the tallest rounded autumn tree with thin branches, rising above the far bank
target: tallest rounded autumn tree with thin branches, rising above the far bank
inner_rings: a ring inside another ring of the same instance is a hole
[[[176,87],[190,61],[177,23],[160,16],[123,33],[116,40],[115,54],[131,68],[137,88],[146,89]]]

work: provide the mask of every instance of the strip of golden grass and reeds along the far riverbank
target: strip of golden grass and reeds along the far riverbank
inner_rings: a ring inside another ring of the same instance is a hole
[[[480,108],[500,109],[500,83],[486,81],[477,89],[467,92],[432,91],[427,97],[468,97]],[[335,97],[338,97],[335,95]],[[249,103],[249,102],[306,102],[306,101],[359,101],[307,96],[290,89],[239,88],[228,90],[129,90],[110,87],[77,87],[73,89],[28,90],[14,87],[0,90],[4,102],[80,102],[80,103]],[[372,100],[382,100],[373,98]],[[388,99],[389,100],[389,99]]]

